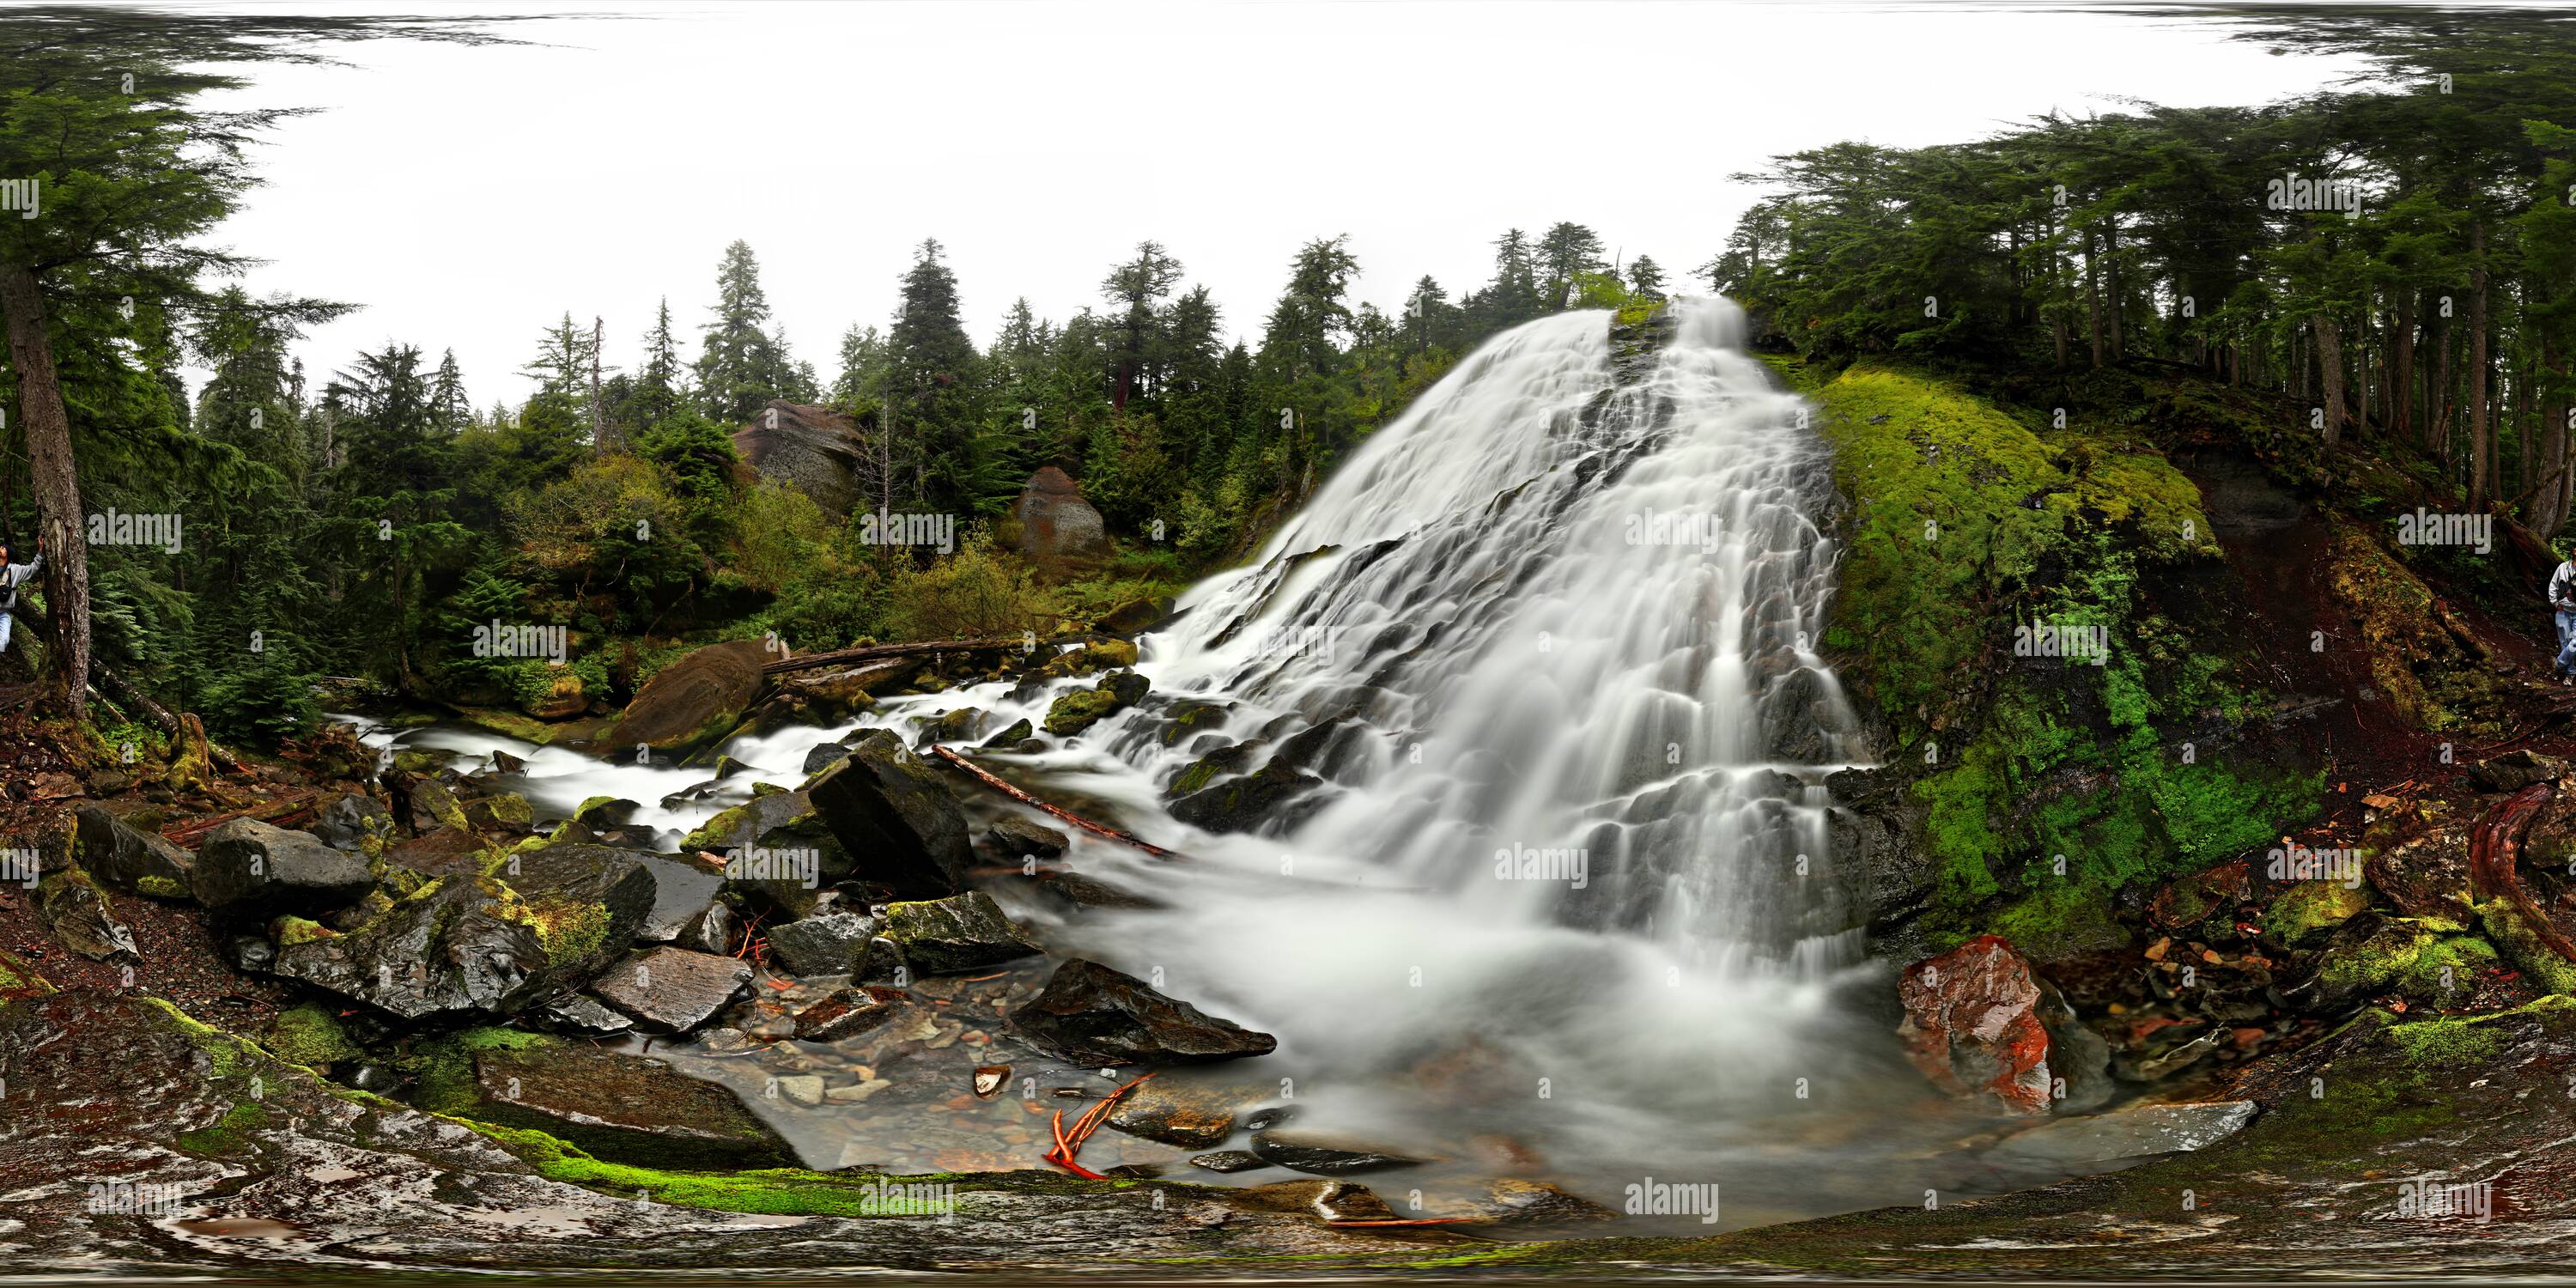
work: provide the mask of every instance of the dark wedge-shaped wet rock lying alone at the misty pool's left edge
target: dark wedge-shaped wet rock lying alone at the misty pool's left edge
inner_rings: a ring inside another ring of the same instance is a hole
[[[1036,1043],[1082,1066],[1206,1064],[1267,1056],[1278,1048],[1270,1033],[1218,1020],[1149,989],[1136,976],[1082,958],[1056,966],[1046,989],[1010,1020]]]

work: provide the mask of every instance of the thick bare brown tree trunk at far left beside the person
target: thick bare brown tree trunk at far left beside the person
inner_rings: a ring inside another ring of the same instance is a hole
[[[90,546],[80,523],[80,477],[72,469],[72,417],[54,374],[54,337],[44,330],[44,286],[26,265],[0,265],[0,314],[18,366],[18,420],[44,533],[44,603],[54,611],[54,683],[72,719],[90,714]]]

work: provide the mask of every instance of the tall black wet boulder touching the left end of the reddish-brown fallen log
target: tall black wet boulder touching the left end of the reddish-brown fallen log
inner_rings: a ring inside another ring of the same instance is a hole
[[[858,860],[860,878],[899,899],[966,889],[966,868],[974,866],[966,811],[938,770],[907,752],[894,732],[868,732],[850,760],[806,783],[806,796]]]

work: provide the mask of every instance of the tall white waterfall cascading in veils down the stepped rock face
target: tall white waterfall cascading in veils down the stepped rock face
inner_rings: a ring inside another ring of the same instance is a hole
[[[1628,376],[1600,312],[1481,348],[1200,585],[1146,670],[1249,703],[1231,734],[1342,719],[1298,850],[1741,969],[1837,966],[1857,943],[1821,775],[1857,737],[1814,652],[1829,459],[1734,304],[1674,301],[1667,330]],[[1574,855],[1582,889],[1497,878]]]

